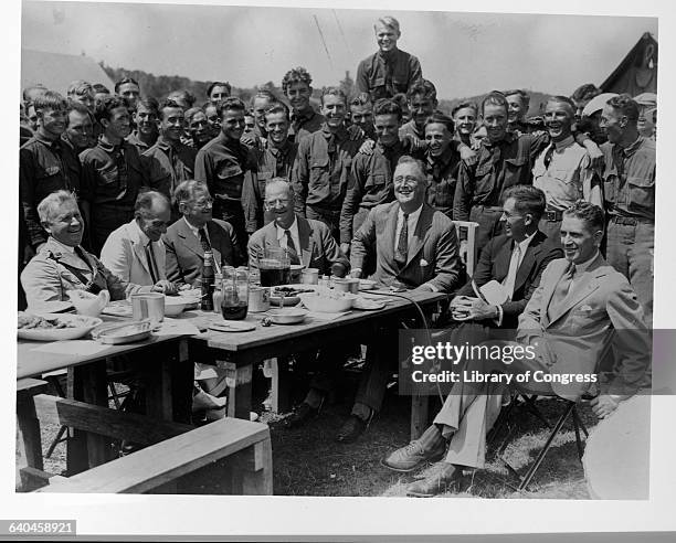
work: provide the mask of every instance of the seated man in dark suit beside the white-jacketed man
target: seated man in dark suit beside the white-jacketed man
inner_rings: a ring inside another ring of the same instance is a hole
[[[213,199],[205,183],[179,183],[173,201],[183,216],[167,228],[163,238],[170,281],[194,285],[202,273],[205,251],[213,253],[216,272],[221,266],[243,263],[232,225],[212,217]]]

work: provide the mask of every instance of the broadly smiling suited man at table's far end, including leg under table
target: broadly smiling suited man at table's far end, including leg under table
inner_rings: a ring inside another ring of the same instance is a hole
[[[420,160],[404,156],[393,175],[395,202],[377,205],[355,234],[350,264],[361,276],[367,258],[371,277],[387,287],[450,292],[460,275],[458,242],[451,219],[425,202],[427,177]],[[352,412],[339,430],[339,443],[355,441],[381,407],[397,339],[387,334],[367,351],[367,363]]]

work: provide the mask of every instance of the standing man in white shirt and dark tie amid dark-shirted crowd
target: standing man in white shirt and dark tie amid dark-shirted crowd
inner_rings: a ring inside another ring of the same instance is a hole
[[[601,179],[591,167],[587,149],[575,142],[572,127],[575,105],[566,96],[552,96],[545,108],[545,125],[551,143],[532,167],[532,184],[547,196],[540,230],[559,239],[563,212],[582,199],[603,207]]]

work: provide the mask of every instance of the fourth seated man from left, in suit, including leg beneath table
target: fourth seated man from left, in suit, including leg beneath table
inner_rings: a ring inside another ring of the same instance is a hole
[[[295,213],[295,198],[291,184],[283,178],[274,178],[265,185],[265,212],[273,220],[249,238],[249,262],[257,266],[266,247],[283,247],[292,264],[317,268],[319,274],[332,273],[344,277],[349,262],[331,236],[331,231],[321,221],[305,219]],[[299,427],[319,413],[324,398],[331,391],[336,373],[346,360],[346,350],[336,345],[318,352],[300,353],[311,363],[315,373],[309,392],[294,413],[285,419],[288,428]]]

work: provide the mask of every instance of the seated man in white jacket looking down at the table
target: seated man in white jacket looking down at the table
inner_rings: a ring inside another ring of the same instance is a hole
[[[117,277],[137,285],[155,285],[165,294],[176,294],[167,280],[166,252],[161,236],[171,220],[171,205],[161,192],[141,192],[134,205],[134,220],[114,231],[101,262]]]

